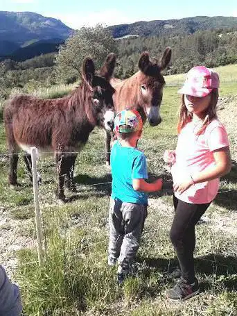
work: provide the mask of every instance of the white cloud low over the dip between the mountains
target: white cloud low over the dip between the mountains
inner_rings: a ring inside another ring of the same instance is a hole
[[[71,28],[80,28],[81,26],[95,26],[98,23],[104,25],[115,25],[135,22],[136,19],[126,16],[119,10],[104,10],[93,13],[48,13],[46,17],[55,17]]]

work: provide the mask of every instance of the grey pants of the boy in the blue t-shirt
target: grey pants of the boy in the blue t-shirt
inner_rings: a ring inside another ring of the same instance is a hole
[[[118,259],[122,269],[134,261],[146,216],[147,206],[110,199],[109,256]]]

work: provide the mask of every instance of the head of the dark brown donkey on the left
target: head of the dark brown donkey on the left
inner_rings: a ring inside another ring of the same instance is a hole
[[[115,59],[114,54],[111,53],[109,56]],[[109,56],[107,56],[107,59]],[[93,60],[86,58],[82,65],[82,79],[89,85],[89,90],[91,91],[92,109],[89,111],[90,113],[87,113],[87,116],[97,126],[112,131],[114,127],[114,103],[112,96],[115,90],[109,83],[112,74],[110,75],[111,69],[107,67],[107,59],[99,74],[96,74]],[[114,69],[112,69],[113,71]]]

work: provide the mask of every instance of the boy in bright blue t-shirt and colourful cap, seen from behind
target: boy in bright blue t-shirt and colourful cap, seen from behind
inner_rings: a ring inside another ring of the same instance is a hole
[[[118,283],[132,274],[147,215],[145,192],[161,190],[162,179],[147,183],[146,157],[137,149],[143,122],[137,110],[123,110],[114,119],[118,140],[111,153],[112,195],[109,207],[108,265],[118,261]]]

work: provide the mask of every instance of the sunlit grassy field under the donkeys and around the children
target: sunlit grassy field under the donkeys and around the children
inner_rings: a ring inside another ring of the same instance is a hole
[[[222,68],[223,74],[229,71],[227,67]],[[55,201],[53,158],[42,158],[38,162],[43,180],[40,207],[44,265],[39,269],[36,250],[24,249],[18,252],[19,265],[15,274],[21,286],[26,316],[237,315],[236,233],[217,227],[223,219],[231,219],[233,225],[237,224],[236,192],[219,195],[207,213],[211,222],[197,227],[195,268],[201,294],[176,304],[167,301],[165,296],[165,291],[173,285],[167,277],[168,272],[177,264],[169,240],[173,219],[171,178],[161,159],[164,149],[174,149],[177,142],[175,126],[179,95],[177,87],[169,85],[168,80],[161,108],[162,124],[157,127],[146,125],[139,143],[148,156],[150,174],[163,176],[166,190],[150,194],[148,218],[137,258],[138,278],[128,278],[123,286],[118,286],[115,269],[107,267],[107,211],[111,189],[109,184],[98,183],[111,181],[111,176],[105,166],[103,131],[96,129],[76,160],[78,192],[66,192],[71,198],[70,203],[60,206]],[[176,79],[173,77],[172,80],[175,82]],[[223,95],[235,93],[230,86],[231,83],[223,83]],[[1,152],[6,152],[3,128],[0,135]],[[22,186],[17,191],[6,187],[6,158],[0,158],[0,164],[1,206],[12,219],[19,222],[28,219],[33,224],[33,189],[22,159],[19,160],[18,172]],[[96,183],[98,185],[94,185]],[[222,180],[221,190],[236,190],[236,183],[234,167]],[[21,233],[35,238],[30,224],[28,231]]]

